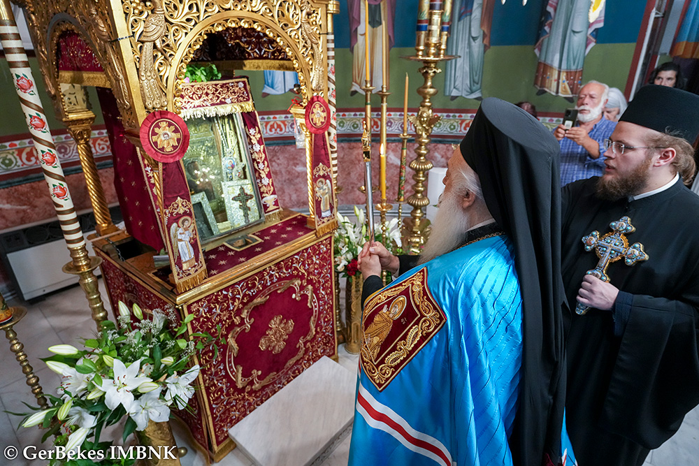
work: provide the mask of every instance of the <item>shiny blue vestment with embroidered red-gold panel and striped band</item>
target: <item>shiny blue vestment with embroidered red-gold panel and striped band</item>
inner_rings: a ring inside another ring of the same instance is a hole
[[[522,301],[505,235],[401,275],[362,326],[350,466],[512,465]]]

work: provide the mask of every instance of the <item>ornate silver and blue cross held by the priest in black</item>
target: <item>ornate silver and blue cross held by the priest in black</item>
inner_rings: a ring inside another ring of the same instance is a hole
[[[636,231],[635,226],[631,224],[631,219],[628,217],[621,217],[617,221],[612,221],[610,224],[612,231],[607,233],[602,238],[600,238],[600,233],[598,231],[593,231],[587,236],[582,238],[582,242],[585,245],[585,251],[589,252],[592,249],[595,250],[600,261],[597,266],[592,270],[588,270],[586,275],[592,275],[597,277],[603,282],[609,282],[610,277],[607,275],[607,267],[610,263],[624,259],[626,265],[634,265],[640,261],[647,261],[648,254],[643,250],[643,245],[640,242],[635,242],[633,245],[628,245],[628,240],[624,233],[633,233]],[[589,307],[577,303],[575,306],[575,312],[577,314],[583,315],[589,310]]]

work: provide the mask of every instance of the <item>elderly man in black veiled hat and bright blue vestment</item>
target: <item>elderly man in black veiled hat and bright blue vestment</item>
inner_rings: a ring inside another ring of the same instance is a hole
[[[559,145],[485,99],[419,265],[364,245],[349,465],[575,464],[563,428]],[[413,256],[415,257],[415,256]]]

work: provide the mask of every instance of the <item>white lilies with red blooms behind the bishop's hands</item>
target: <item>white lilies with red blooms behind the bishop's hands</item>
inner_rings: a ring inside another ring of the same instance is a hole
[[[338,212],[338,229],[335,231],[335,270],[347,277],[354,277],[359,272],[356,258],[359,256],[361,247],[369,240],[364,211],[355,205],[354,215],[356,216],[356,221],[352,222],[349,217],[345,217]],[[383,241],[381,225],[376,224],[375,228],[375,239],[383,242],[389,251],[395,251],[397,245],[401,243],[398,219],[391,219],[387,224],[389,242]]]

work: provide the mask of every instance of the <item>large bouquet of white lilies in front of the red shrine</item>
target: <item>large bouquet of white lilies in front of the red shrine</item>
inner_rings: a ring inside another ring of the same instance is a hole
[[[138,305],[131,312],[120,302],[119,314],[117,324],[101,323],[101,333],[85,340],[85,349],[70,344],[49,348],[55,355],[43,361],[63,377],[58,396],[47,395],[52,406],[22,423],[48,429],[42,442],[55,435],[54,444],[64,446],[66,452],[106,450],[112,442],[101,442],[101,432],[124,416],[128,416],[122,435],[125,442],[149,421],[168,421],[171,409],[188,408],[192,384],[199,375],[199,365],[188,367],[188,363],[208,345],[217,354],[220,337],[194,333],[186,339],[183,334],[194,316],[175,326],[174,307],[153,310],[150,319],[144,319]]]

